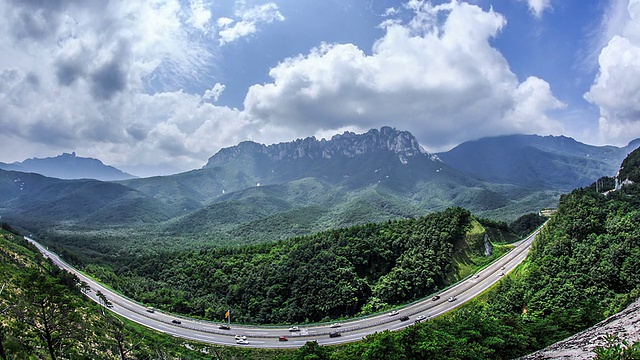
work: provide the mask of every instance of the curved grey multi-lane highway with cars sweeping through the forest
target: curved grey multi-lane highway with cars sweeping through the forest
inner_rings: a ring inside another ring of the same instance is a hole
[[[505,274],[515,269],[518,264],[524,261],[539,231],[540,229],[529,237],[514,243],[514,248],[511,251],[491,265],[440,292],[438,294],[440,296],[438,300],[432,300],[431,297],[426,298],[399,308],[397,315],[389,316],[385,313],[356,318],[344,321],[338,328],[331,328],[331,324],[292,324],[299,326],[299,331],[295,332],[290,332],[289,327],[249,326],[234,323],[231,323],[231,329],[223,330],[219,329],[220,322],[215,323],[191,319],[158,310],[149,312],[144,305],[125,298],[73,268],[40,243],[29,237],[25,237],[25,239],[33,243],[42,254],[50,258],[54,264],[75,274],[80,281],[86,282],[91,288],[91,291],[86,293],[89,298],[100,303],[96,293],[98,291],[102,292],[107,300],[112,303],[112,307],[110,307],[109,310],[150,329],[172,336],[210,344],[257,348],[291,348],[301,347],[307,341],[317,341],[320,345],[358,341],[375,332],[384,330],[395,331],[411,326],[415,323],[416,317],[421,315],[430,319],[450,311],[473,299],[497,283]],[[450,297],[454,297],[456,300],[449,301]],[[231,314],[231,316],[233,317],[233,314]],[[400,318],[404,316],[408,316],[409,320],[401,321]],[[174,320],[180,323],[176,324],[173,322]],[[339,332],[340,336],[329,337],[329,334],[332,332]],[[247,343],[238,344],[235,335],[246,336]],[[286,336],[288,340],[280,341],[280,336]]]

